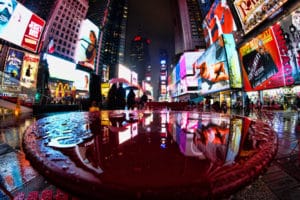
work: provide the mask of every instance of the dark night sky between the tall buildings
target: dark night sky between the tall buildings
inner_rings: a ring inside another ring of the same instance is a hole
[[[166,49],[170,60],[174,55],[172,20],[170,0],[129,0],[126,49],[130,48],[130,42],[141,26],[142,36],[151,40],[152,83],[157,83],[159,79],[159,50]]]

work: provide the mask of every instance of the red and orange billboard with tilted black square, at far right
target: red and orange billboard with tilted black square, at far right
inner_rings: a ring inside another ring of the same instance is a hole
[[[287,24],[286,19],[274,24],[239,49],[246,91],[299,83],[299,52],[289,39],[296,30],[291,33]]]

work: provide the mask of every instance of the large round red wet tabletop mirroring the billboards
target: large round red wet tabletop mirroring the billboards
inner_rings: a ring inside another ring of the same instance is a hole
[[[276,143],[276,134],[260,121],[173,111],[56,115],[37,121],[24,137],[28,157],[48,169],[49,179],[57,181],[53,177],[63,170],[85,183],[82,193],[95,196],[101,190],[87,183],[133,193],[168,188],[167,194],[180,186],[198,197],[217,195],[257,176]]]

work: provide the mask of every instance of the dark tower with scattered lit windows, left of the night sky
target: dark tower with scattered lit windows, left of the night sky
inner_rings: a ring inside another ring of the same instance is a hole
[[[99,65],[109,70],[109,78],[117,76],[119,64],[124,63],[128,0],[110,0],[103,27]]]

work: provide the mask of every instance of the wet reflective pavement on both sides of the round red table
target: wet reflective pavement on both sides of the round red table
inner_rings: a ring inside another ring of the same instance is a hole
[[[240,113],[238,113],[240,114]],[[63,192],[50,184],[25,159],[22,147],[26,128],[42,116],[2,116],[0,121],[1,182],[14,195],[44,195],[59,199]],[[258,178],[223,199],[300,199],[300,120],[293,111],[251,113],[251,119],[271,124],[278,136],[278,152]],[[35,192],[33,194],[33,192]],[[65,195],[66,197],[66,195]],[[69,199],[74,195],[69,195]],[[3,192],[0,199],[8,199]]]

